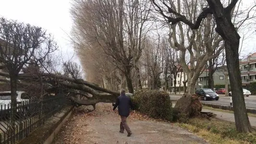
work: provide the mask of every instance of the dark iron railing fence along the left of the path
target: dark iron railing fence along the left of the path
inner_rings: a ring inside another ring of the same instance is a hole
[[[63,95],[23,101],[14,110],[15,120],[11,120],[10,104],[1,105],[0,144],[15,144],[69,104],[69,100]]]

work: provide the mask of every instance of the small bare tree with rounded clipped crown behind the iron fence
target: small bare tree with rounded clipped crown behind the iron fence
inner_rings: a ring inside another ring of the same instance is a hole
[[[11,84],[11,121],[14,125],[18,74],[31,59],[40,61],[56,49],[50,35],[40,27],[0,19],[0,62],[8,69]]]

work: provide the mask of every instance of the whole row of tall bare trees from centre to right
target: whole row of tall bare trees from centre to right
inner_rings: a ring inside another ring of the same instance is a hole
[[[112,89],[127,86],[130,93],[134,87],[156,89],[160,75],[166,87],[172,75],[176,86],[181,66],[193,94],[206,64],[213,88],[212,74],[225,53],[237,129],[248,132],[237,31],[255,17],[255,6],[243,10],[241,1],[74,0],[73,41],[92,81]]]

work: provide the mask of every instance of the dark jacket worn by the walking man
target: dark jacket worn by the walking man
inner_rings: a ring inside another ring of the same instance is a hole
[[[125,96],[125,94],[121,94],[121,96],[117,97],[113,110],[115,110],[117,106],[118,114],[124,117],[128,117],[130,114],[130,108],[133,108],[131,98],[129,96]]]

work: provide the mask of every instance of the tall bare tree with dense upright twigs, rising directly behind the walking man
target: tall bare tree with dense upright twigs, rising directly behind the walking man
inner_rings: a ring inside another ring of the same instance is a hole
[[[150,5],[147,0],[75,0],[73,3],[71,13],[79,40],[102,48],[110,56],[125,76],[130,93],[134,92],[131,72],[134,67],[138,70],[147,33],[146,7]]]

